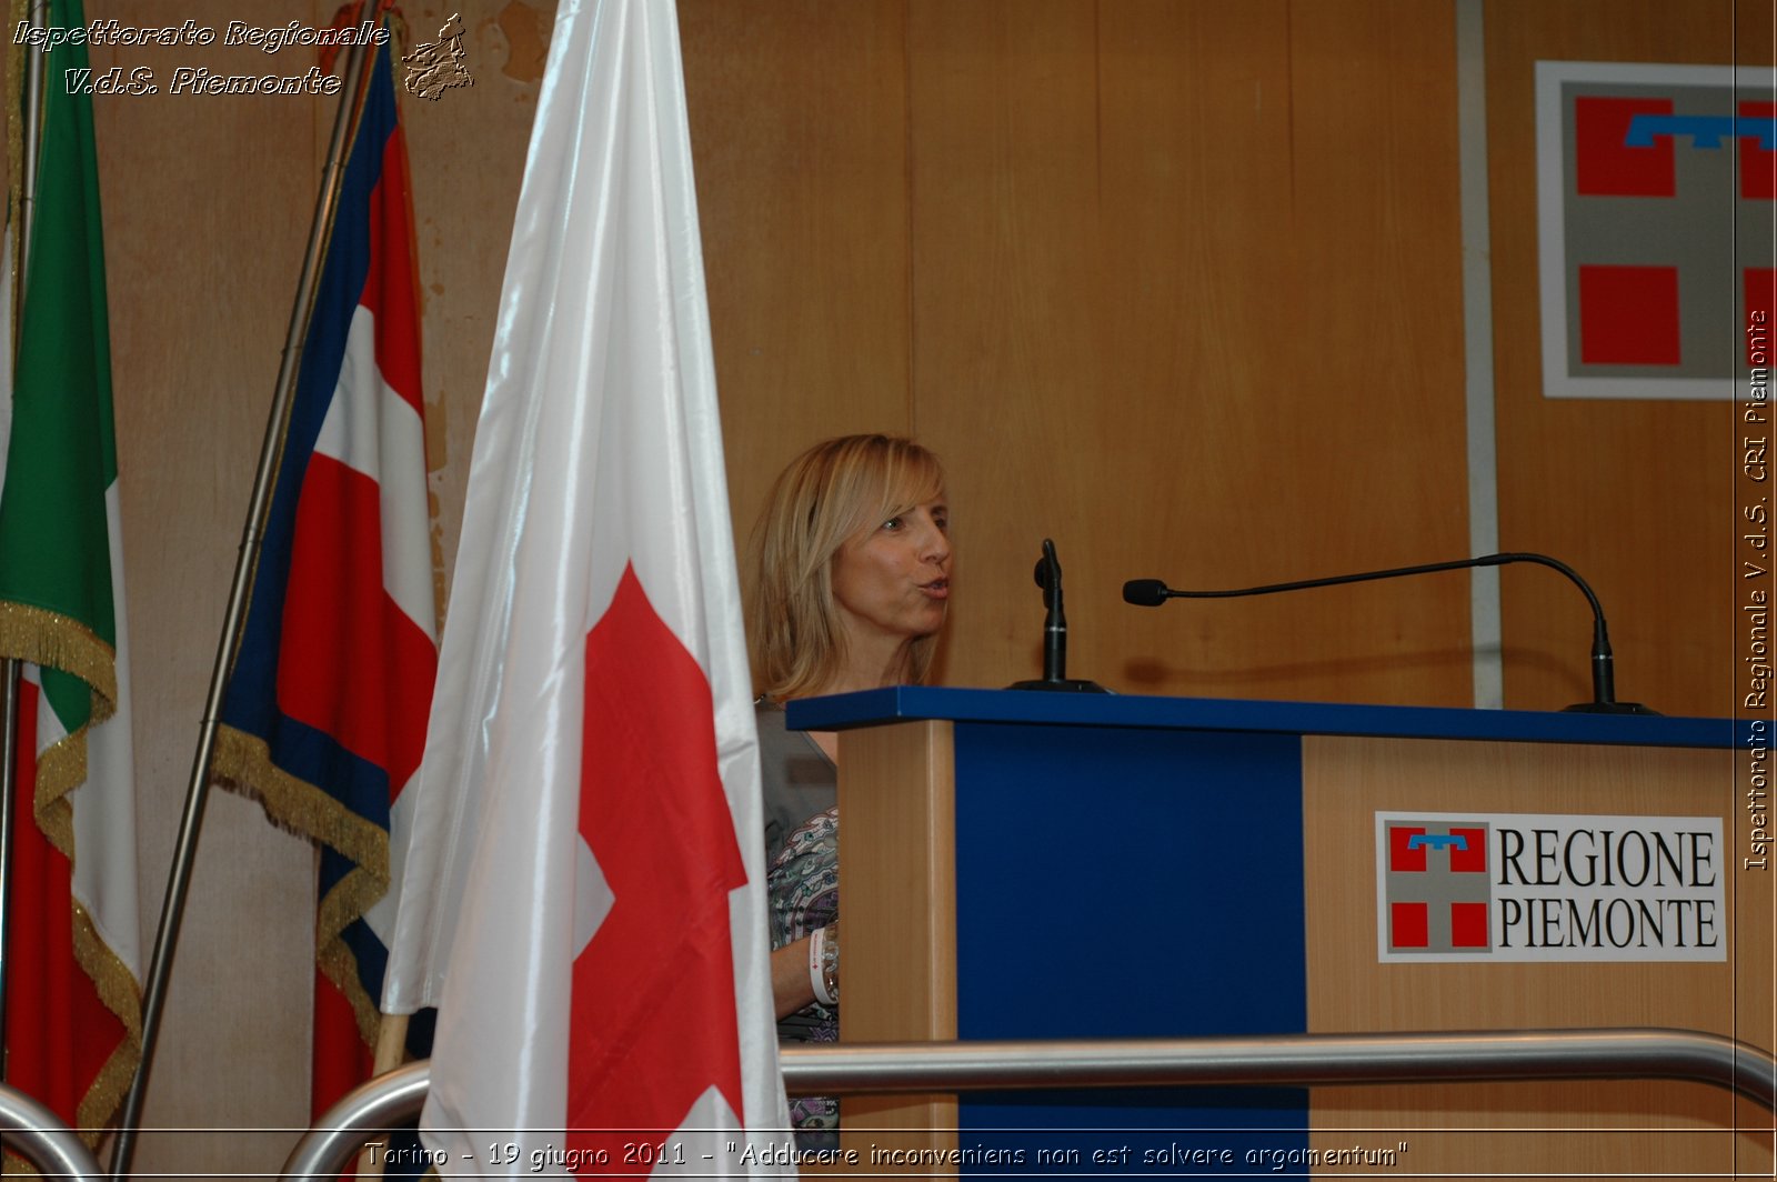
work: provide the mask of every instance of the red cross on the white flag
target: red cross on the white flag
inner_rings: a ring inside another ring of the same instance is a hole
[[[745,1120],[729,892],[746,871],[714,734],[704,670],[626,567],[586,636],[579,832],[615,901],[574,962],[567,1116],[583,1173],[634,1171],[620,1145],[672,1132],[709,1088]]]

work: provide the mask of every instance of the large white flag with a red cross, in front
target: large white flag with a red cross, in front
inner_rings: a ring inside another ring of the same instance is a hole
[[[384,997],[444,1173],[780,1170],[720,427],[672,0],[563,0]]]

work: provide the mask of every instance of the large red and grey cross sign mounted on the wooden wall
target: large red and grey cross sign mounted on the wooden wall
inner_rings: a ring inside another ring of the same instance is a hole
[[[1544,396],[1747,396],[1773,199],[1770,69],[1537,62]]]

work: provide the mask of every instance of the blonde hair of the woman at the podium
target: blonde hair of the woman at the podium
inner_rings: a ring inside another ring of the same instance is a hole
[[[860,530],[942,494],[938,457],[896,435],[828,439],[784,469],[748,546],[746,640],[761,693],[805,697],[839,672],[846,652],[833,556]],[[906,681],[926,679],[935,642],[913,640]]]

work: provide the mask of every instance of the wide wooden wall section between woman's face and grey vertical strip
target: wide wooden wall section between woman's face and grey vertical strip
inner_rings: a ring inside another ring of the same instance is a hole
[[[949,679],[1466,702],[1466,585],[1120,599],[1466,547],[1450,11],[915,4],[913,364]]]

